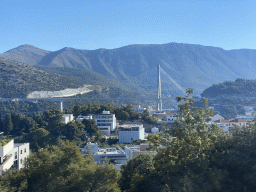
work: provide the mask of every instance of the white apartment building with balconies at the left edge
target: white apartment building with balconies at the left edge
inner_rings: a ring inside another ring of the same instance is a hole
[[[14,140],[2,139],[0,147],[0,174],[11,167],[21,169],[29,155],[29,143],[14,143]]]

